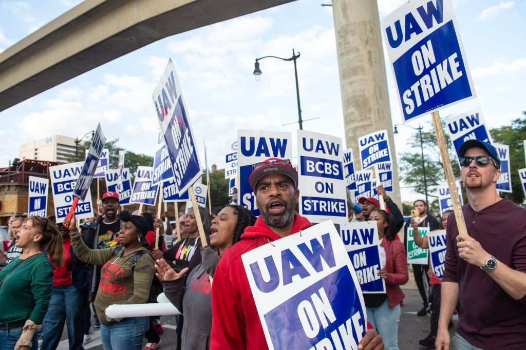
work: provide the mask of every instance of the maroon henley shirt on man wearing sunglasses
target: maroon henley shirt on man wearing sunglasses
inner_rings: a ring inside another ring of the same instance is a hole
[[[497,264],[526,273],[526,209],[502,197],[481,211],[469,204],[462,210],[469,235],[495,256]],[[514,300],[490,277],[491,272],[460,258],[458,234],[457,220],[451,215],[442,282],[459,284],[457,332],[483,349],[526,348],[526,296]]]

